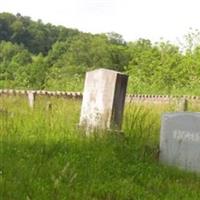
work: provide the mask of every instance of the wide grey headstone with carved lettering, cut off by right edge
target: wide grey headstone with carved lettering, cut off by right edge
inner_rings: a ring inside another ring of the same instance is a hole
[[[160,161],[200,172],[200,113],[166,113],[162,117]]]

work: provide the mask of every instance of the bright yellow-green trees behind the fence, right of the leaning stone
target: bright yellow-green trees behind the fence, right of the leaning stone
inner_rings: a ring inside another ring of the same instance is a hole
[[[149,40],[139,40],[129,44],[129,51],[130,92],[162,94],[196,92],[193,89],[200,80],[198,48],[193,52],[181,54],[177,46],[168,42],[152,45]]]

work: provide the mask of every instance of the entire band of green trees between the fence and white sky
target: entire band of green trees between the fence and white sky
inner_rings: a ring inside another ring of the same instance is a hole
[[[184,52],[169,42],[125,42],[117,33],[90,34],[0,14],[0,87],[82,90],[84,74],[99,67],[129,75],[134,93],[200,94],[200,34]]]

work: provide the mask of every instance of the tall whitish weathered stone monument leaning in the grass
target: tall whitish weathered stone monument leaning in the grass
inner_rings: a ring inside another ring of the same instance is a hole
[[[121,128],[128,76],[97,69],[86,73],[79,125],[94,129]]]

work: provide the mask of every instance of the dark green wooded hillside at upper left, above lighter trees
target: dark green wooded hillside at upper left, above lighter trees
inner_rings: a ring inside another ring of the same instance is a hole
[[[77,30],[35,22],[20,14],[0,13],[0,41],[23,44],[31,53],[47,54],[53,43],[77,34]]]

